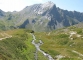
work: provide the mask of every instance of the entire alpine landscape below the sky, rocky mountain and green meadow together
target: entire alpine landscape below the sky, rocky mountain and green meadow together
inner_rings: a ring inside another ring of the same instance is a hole
[[[83,12],[51,1],[0,9],[0,60],[83,60]]]

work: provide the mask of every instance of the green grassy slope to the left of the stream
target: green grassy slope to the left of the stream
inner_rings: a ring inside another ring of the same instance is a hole
[[[5,31],[12,38],[0,41],[0,59],[2,60],[34,60],[35,47],[32,36],[24,29]]]

